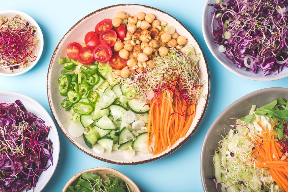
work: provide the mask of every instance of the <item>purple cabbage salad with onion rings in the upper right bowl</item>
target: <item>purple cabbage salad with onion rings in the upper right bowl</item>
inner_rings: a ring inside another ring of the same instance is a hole
[[[288,0],[216,0],[214,43],[238,68],[263,76],[288,68]]]

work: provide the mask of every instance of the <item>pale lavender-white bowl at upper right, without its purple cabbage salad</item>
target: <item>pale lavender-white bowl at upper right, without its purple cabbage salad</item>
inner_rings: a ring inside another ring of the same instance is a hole
[[[219,45],[217,43],[214,43],[213,37],[213,30],[217,27],[217,22],[214,21],[213,24],[211,24],[213,19],[211,13],[214,11],[214,7],[211,6],[211,4],[215,4],[215,2],[216,0],[207,0],[206,4],[204,5],[204,11],[202,15],[202,31],[204,40],[209,50],[211,51],[213,56],[219,61],[219,63],[232,73],[250,80],[272,81],[287,77],[288,69],[285,66],[283,70],[276,75],[274,75],[273,72],[270,72],[268,75],[263,76],[264,72],[261,71],[259,68],[257,73],[254,74],[252,70],[245,71],[246,68],[238,68],[236,64],[233,64],[233,62],[228,57],[226,57],[226,55],[224,55],[224,53],[218,51]]]

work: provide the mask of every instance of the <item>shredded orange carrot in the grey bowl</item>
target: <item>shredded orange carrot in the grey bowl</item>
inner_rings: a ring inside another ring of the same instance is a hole
[[[258,124],[261,126],[260,122]],[[270,170],[272,178],[279,188],[288,192],[288,158],[281,161],[281,157],[284,154],[280,151],[280,143],[275,139],[277,135],[273,129],[274,125],[275,124],[272,125],[269,133],[263,133],[263,143],[255,146],[259,152],[255,167]]]

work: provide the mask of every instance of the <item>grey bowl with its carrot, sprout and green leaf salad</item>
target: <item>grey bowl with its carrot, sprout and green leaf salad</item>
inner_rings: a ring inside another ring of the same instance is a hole
[[[288,191],[288,89],[252,92],[209,128],[200,155],[204,191]]]

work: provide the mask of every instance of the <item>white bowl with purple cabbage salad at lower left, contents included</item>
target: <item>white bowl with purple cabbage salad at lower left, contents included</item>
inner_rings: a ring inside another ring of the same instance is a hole
[[[0,91],[0,113],[0,191],[42,191],[59,158],[53,119],[34,99],[10,91]]]

